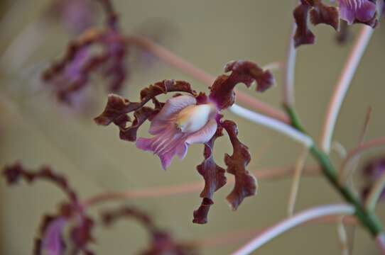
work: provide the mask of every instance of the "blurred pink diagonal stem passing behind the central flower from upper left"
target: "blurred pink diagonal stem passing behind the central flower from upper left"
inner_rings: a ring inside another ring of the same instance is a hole
[[[201,81],[207,86],[212,86],[215,81],[215,77],[212,77],[210,74],[207,74],[202,69],[195,67],[190,62],[183,60],[183,58],[178,57],[170,50],[167,50],[161,45],[157,45],[155,42],[151,42],[146,38],[141,38],[139,36],[126,36],[124,40],[127,43],[132,43],[138,47],[141,47],[143,50],[151,52],[153,55],[158,57],[160,60],[170,64],[170,66],[175,67],[176,69],[181,70],[185,74],[194,77],[198,81]],[[269,115],[272,118],[281,120],[284,123],[289,123],[288,117],[285,113],[278,111],[277,109],[269,106],[268,104],[259,101],[258,99],[249,96],[242,91],[235,90],[237,94],[237,101],[244,103],[246,106],[254,108],[254,110]]]

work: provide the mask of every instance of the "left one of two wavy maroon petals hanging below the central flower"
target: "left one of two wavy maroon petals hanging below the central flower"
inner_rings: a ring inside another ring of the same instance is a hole
[[[203,188],[200,193],[200,197],[203,198],[202,204],[200,205],[200,208],[195,210],[193,213],[194,223],[207,223],[207,215],[210,210],[210,206],[214,203],[212,201],[212,196],[215,191],[222,188],[227,181],[226,176],[224,176],[224,169],[215,163],[212,155],[214,142],[217,137],[221,137],[222,135],[222,128],[218,128],[217,132],[215,132],[215,135],[210,139],[210,141],[205,143],[205,149],[203,152],[205,159],[202,164],[197,166],[197,171],[203,176],[203,179],[205,179],[205,188]]]

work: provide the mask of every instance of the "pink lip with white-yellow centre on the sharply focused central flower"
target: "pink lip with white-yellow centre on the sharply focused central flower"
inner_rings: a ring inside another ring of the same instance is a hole
[[[155,137],[139,138],[136,147],[157,154],[167,169],[175,154],[185,157],[188,145],[212,138],[217,130],[216,113],[213,103],[197,105],[193,96],[170,98],[151,122],[148,132]]]

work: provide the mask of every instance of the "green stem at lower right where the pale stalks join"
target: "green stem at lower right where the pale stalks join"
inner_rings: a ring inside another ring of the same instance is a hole
[[[300,120],[298,118],[298,115],[295,113],[294,109],[288,106],[286,106],[285,108],[289,115],[289,118],[291,119],[291,125],[293,125],[293,127],[298,131],[306,134],[305,129],[300,124]],[[318,147],[316,147],[315,145],[310,147],[310,153],[313,154],[313,157],[318,161],[318,163],[322,167],[322,173],[326,176],[327,180],[330,181],[332,186],[342,195],[342,197],[348,203],[354,206],[356,210],[355,215],[359,222],[361,222],[364,227],[367,227],[373,237],[376,237],[378,234],[382,233],[383,228],[381,222],[378,220],[376,215],[374,215],[374,213],[372,212],[368,212],[364,208],[362,202],[355,195],[354,191],[349,188],[349,186],[342,186],[338,182],[337,171],[332,165],[329,156],[327,156],[327,154],[318,149]]]

